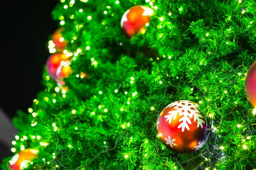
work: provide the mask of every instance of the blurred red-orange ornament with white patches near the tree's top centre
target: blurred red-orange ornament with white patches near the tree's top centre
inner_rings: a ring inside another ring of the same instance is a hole
[[[136,35],[138,32],[144,34],[145,24],[149,23],[153,12],[153,9],[146,6],[133,6],[123,14],[121,28],[128,37]]]

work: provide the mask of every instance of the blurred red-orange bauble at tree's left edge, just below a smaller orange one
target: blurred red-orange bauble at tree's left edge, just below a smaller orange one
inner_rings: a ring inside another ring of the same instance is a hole
[[[66,57],[66,54],[56,53],[51,54],[46,62],[47,72],[54,80],[62,79],[70,74],[70,57]]]

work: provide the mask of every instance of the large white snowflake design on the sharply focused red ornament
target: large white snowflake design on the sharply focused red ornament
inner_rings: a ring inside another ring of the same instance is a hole
[[[182,127],[181,131],[184,132],[185,127],[187,130],[190,130],[188,123],[191,125],[191,121],[189,119],[194,116],[194,122],[197,120],[197,127],[201,126],[203,128],[204,120],[202,115],[198,114],[198,104],[194,104],[193,102],[187,101],[187,100],[180,100],[177,102],[172,102],[166,108],[171,108],[174,106],[175,111],[169,111],[169,115],[164,116],[166,119],[166,122],[169,120],[169,124],[172,122],[172,119],[175,120],[177,117],[177,114],[179,113],[180,116],[183,116],[179,119],[180,125],[178,128]]]

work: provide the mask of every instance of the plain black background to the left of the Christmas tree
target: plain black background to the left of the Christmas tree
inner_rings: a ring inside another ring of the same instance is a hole
[[[58,28],[51,12],[58,0],[9,0],[1,5],[0,108],[12,118],[32,106]]]

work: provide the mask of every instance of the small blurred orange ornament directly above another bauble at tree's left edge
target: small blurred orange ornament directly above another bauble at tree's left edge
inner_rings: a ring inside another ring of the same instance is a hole
[[[62,37],[61,32],[64,31],[64,28],[58,28],[53,34],[52,34],[52,41],[55,44],[55,48],[59,50],[64,50],[67,48],[67,41],[64,40]]]

